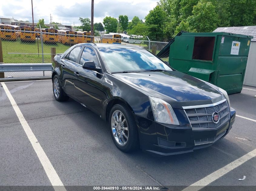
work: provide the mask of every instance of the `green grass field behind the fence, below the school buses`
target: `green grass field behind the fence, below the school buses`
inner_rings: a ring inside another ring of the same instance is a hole
[[[70,46],[61,43],[43,43],[43,52],[51,53],[51,47],[56,47],[56,53],[65,52]],[[4,63],[42,63],[42,55],[8,54],[8,53],[42,53],[41,40],[35,43],[2,40]],[[44,63],[51,63],[51,55],[44,55]]]

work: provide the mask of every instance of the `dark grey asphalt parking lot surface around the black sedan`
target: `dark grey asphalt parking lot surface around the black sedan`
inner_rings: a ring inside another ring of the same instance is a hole
[[[118,150],[100,117],[72,99],[55,100],[51,80],[4,84],[64,186],[256,186],[254,87],[229,96],[237,117],[226,137],[208,148],[159,158]],[[0,86],[0,186],[51,186],[24,121]],[[250,152],[251,158],[243,158]]]

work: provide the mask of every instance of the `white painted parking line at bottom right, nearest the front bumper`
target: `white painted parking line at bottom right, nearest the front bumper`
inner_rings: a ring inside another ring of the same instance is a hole
[[[213,181],[217,180],[218,178],[222,177],[226,173],[230,172],[231,170],[235,169],[236,167],[240,166],[241,164],[243,164],[244,162],[250,160],[255,156],[256,156],[256,149],[238,158],[237,160],[227,164],[221,169],[216,170],[215,172],[209,174],[208,176],[195,182],[194,184],[191,184],[190,186],[186,187],[182,191],[198,191],[202,189],[204,186],[207,186],[208,184],[212,183]]]

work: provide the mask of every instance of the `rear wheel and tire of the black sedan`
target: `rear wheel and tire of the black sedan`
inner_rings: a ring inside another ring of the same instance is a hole
[[[63,91],[57,75],[55,75],[52,79],[52,90],[53,90],[53,95],[57,101],[68,100],[69,97]]]

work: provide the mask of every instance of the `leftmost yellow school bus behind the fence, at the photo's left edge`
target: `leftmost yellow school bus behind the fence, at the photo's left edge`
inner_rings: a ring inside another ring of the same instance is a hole
[[[6,29],[6,30],[1,30],[0,32],[0,37],[2,38],[2,40],[17,40],[19,33],[15,30],[18,30],[19,27],[18,26],[13,26],[13,25],[1,25],[0,26],[1,29]]]

